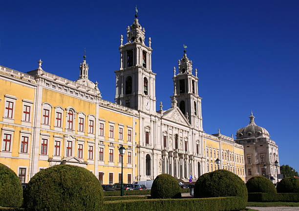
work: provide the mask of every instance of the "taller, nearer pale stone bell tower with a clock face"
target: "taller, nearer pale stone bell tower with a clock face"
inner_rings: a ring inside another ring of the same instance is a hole
[[[151,70],[151,40],[145,44],[145,28],[137,19],[127,27],[127,43],[121,35],[120,69],[115,71],[117,104],[153,114],[156,112],[155,75]]]

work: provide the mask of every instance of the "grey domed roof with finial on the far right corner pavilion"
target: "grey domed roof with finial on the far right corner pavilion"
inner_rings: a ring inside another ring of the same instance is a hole
[[[242,127],[236,132],[236,139],[251,139],[251,138],[269,138],[269,132],[255,123],[255,117],[252,112],[250,115],[250,122],[246,127]]]

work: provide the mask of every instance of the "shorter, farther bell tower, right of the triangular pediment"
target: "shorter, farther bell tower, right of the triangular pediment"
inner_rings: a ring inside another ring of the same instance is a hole
[[[189,123],[197,130],[202,130],[201,97],[198,96],[197,69],[192,74],[192,61],[186,54],[178,60],[178,74],[173,68],[173,96],[171,96],[171,107],[179,107],[181,112],[189,120]]]

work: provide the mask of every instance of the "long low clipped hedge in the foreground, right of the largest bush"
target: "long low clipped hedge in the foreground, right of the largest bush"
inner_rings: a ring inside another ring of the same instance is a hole
[[[243,210],[239,197],[186,198],[186,199],[146,199],[108,201],[104,203],[105,211],[232,211]]]

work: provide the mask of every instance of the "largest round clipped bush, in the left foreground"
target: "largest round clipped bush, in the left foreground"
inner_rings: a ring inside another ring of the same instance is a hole
[[[28,211],[99,211],[103,189],[93,173],[75,165],[54,165],[34,175],[24,192]]]

